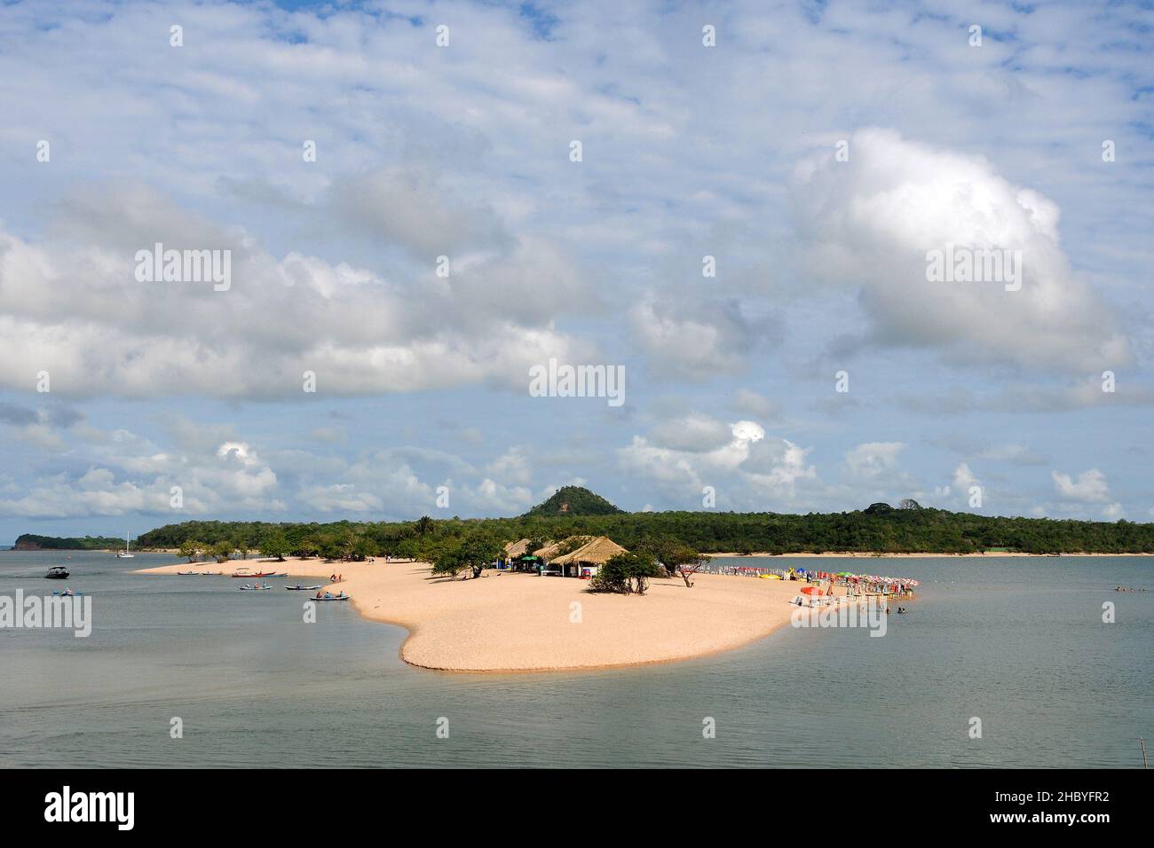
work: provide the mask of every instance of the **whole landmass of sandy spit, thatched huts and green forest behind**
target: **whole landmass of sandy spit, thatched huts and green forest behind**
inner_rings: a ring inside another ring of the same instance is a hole
[[[729,560],[711,566],[711,554],[727,549],[794,556],[927,548],[973,556],[992,547],[1002,548],[992,555],[1003,556],[1055,547],[1149,553],[1151,530],[988,518],[913,502],[833,516],[630,513],[567,487],[510,519],[168,525],[142,542],[177,550],[186,562],[141,573],[256,580],[291,575],[288,588],[308,591],[297,596],[306,607],[351,600],[365,617],[404,626],[400,656],[424,668],[587,669],[734,648],[787,625],[800,606],[908,599],[916,586],[877,572],[802,566],[796,560],[778,564],[764,554],[751,561],[757,565],[733,568]],[[252,550],[263,558],[248,560]],[[548,579],[554,576],[562,579]],[[301,585],[299,578],[310,579]]]

